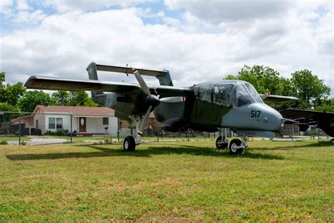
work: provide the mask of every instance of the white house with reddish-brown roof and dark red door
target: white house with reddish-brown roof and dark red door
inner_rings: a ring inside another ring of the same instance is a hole
[[[63,129],[76,135],[130,135],[128,121],[118,120],[113,109],[108,107],[67,107],[37,105],[32,114],[13,119],[11,128],[21,135],[45,135]],[[150,135],[157,133],[158,122],[153,112],[147,123]]]

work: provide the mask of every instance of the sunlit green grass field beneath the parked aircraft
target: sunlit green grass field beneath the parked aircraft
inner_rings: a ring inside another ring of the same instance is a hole
[[[334,145],[0,145],[1,221],[334,221]]]

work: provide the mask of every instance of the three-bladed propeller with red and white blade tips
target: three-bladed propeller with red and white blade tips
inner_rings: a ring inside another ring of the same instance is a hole
[[[135,75],[135,78],[140,84],[140,88],[142,88],[142,91],[147,95],[146,103],[149,104],[149,109],[147,109],[147,112],[144,115],[144,118],[142,119],[139,129],[137,131],[137,135],[142,136],[147,120],[149,120],[149,114],[151,114],[151,111],[154,107],[156,107],[160,102],[167,102],[167,103],[185,102],[185,97],[163,97],[159,99],[159,97],[157,97],[156,95],[152,95],[151,92],[149,92],[147,84],[145,83],[144,79],[142,78],[142,76],[140,75],[139,71],[137,71],[136,68],[132,69],[132,73]]]

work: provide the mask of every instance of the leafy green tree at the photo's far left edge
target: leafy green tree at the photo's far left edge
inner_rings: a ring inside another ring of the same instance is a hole
[[[15,85],[4,85],[6,80],[6,73],[0,73],[0,102],[6,102],[12,106],[18,104],[18,100],[25,93],[25,87],[22,82],[18,82]]]

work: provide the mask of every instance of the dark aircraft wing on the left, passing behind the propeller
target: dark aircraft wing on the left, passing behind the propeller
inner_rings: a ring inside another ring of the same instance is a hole
[[[55,78],[45,76],[31,76],[25,83],[26,88],[40,90],[99,90],[103,92],[133,92],[142,90],[140,85],[135,83],[116,83],[101,80],[75,80],[66,78]],[[184,96],[189,88],[175,88],[171,86],[159,85],[149,87],[151,90],[156,90],[158,95],[162,97]]]

